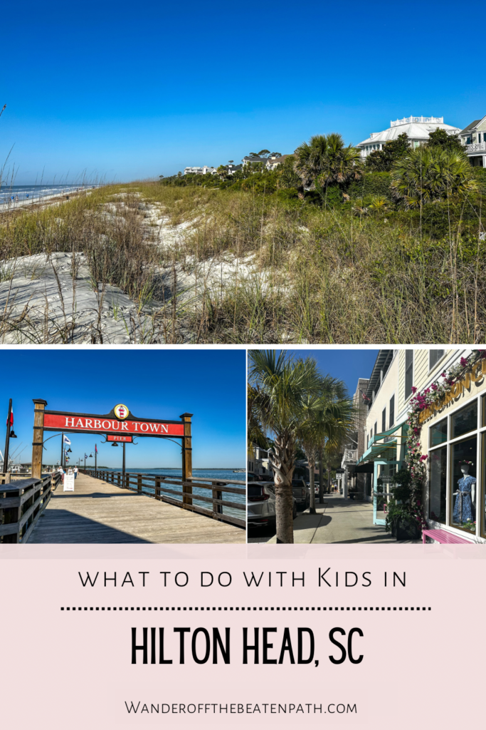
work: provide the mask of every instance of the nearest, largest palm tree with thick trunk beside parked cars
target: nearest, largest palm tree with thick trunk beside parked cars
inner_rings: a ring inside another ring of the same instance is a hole
[[[270,450],[275,479],[277,542],[294,542],[292,476],[295,448],[308,397],[321,392],[322,378],[312,358],[294,361],[275,350],[248,351],[252,410],[263,429],[273,434]]]

